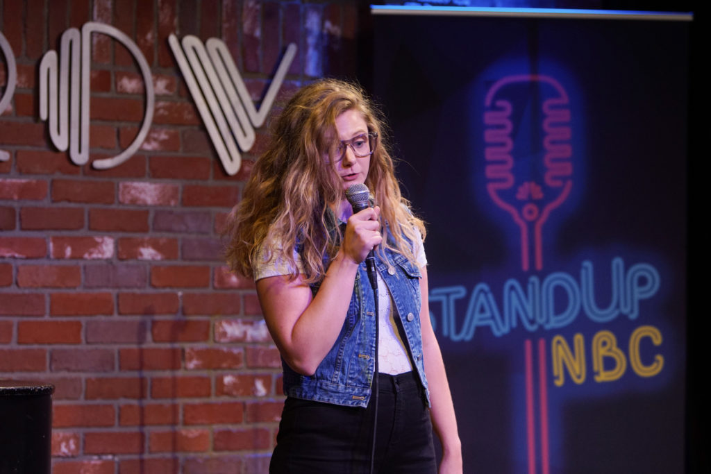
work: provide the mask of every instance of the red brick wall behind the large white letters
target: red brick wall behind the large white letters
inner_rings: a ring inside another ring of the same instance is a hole
[[[166,38],[223,38],[255,100],[296,43],[278,107],[315,77],[355,77],[362,12],[355,0],[0,0],[17,64],[0,116],[0,378],[55,385],[53,473],[266,470],[279,355],[218,238],[266,129],[228,176]],[[92,38],[90,163],[57,151],[38,112],[43,54],[87,21],[132,38],[156,90],[141,149],[103,171],[91,161],[127,148],[144,113],[120,43]],[[6,65],[0,54],[0,96]]]

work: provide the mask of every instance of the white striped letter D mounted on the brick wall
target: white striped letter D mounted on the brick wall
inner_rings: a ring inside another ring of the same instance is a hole
[[[112,36],[126,46],[141,70],[146,90],[146,112],[134,141],[117,156],[92,163],[94,168],[107,169],[120,165],[138,151],[153,122],[155,95],[151,69],[141,50],[126,33],[94,21],[84,23],[81,33],[77,28],[62,33],[61,57],[57,57],[56,51],[49,50],[40,63],[40,118],[49,120],[50,139],[57,149],[69,149],[69,156],[76,165],[89,161],[92,33]]]

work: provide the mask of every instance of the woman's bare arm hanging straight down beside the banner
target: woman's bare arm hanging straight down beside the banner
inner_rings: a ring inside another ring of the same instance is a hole
[[[429,401],[432,404],[430,416],[432,426],[442,443],[442,463],[440,474],[462,472],[461,441],[456,428],[454,404],[451,401],[447,373],[444,371],[442,351],[434,337],[432,322],[429,321],[429,299],[427,285],[427,268],[421,267],[422,278],[419,280],[419,292],[422,297],[422,307],[419,311],[419,321],[422,325],[422,350],[424,352],[424,372],[429,387]]]

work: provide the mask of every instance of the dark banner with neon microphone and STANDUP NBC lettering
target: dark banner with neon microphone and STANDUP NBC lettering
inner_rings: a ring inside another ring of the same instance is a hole
[[[465,472],[681,472],[688,23],[375,32]]]

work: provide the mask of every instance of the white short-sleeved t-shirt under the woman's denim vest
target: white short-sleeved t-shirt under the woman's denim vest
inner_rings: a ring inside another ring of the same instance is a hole
[[[292,268],[284,258],[284,251],[279,245],[274,245],[274,255],[270,262],[267,262],[267,256],[262,252],[262,249],[257,252],[255,258],[254,272],[255,281],[268,276],[279,276],[292,274]],[[419,266],[427,265],[427,257],[424,254],[424,245],[422,238],[418,238],[414,242],[415,259]],[[299,273],[304,273],[304,266],[301,263],[301,256],[296,249],[293,249],[294,263]],[[410,357],[407,355],[407,349],[403,343],[402,335],[397,329],[395,316],[397,308],[392,302],[390,291],[385,285],[385,281],[378,273],[378,371],[385,374],[397,375],[403,372],[412,370]]]

